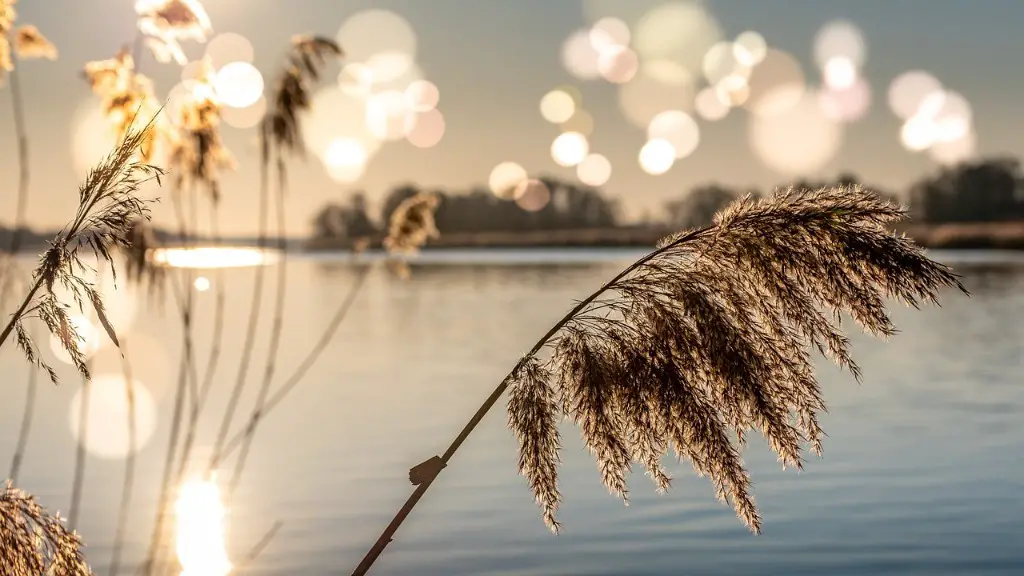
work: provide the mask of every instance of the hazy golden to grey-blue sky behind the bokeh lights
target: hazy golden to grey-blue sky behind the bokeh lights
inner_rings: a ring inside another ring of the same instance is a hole
[[[774,170],[752,149],[751,115],[734,111],[720,122],[698,121],[696,151],[665,174],[649,175],[637,161],[645,130],[631,125],[617,104],[618,87],[604,81],[574,79],[562,66],[565,39],[592,24],[595,9],[629,24],[654,0],[205,0],[214,34],[233,32],[252,41],[253,64],[271,84],[289,39],[297,33],[335,37],[342,23],[360,10],[387,9],[400,14],[417,36],[416,61],[440,90],[437,110],[446,129],[440,142],[418,149],[404,141],[386,143],[355,182],[332,181],[314,157],[291,168],[288,225],[293,236],[307,234],[315,211],[328,201],[365,191],[376,202],[397,184],[467,190],[486,186],[492,169],[514,161],[534,175],[575,178],[572,168],[551,157],[557,126],[544,120],[539,101],[549,90],[572,85],[594,118],[592,151],[611,162],[602,187],[621,200],[630,216],[657,215],[660,206],[690,188],[719,182],[761,189],[790,181],[793,174]],[[33,24],[60,51],[56,61],[22,63],[20,79],[31,134],[31,203],[34,228],[57,227],[76,207],[81,178],[73,162],[77,118],[95,101],[80,71],[87,60],[111,57],[135,33],[133,0],[20,0],[19,23]],[[813,57],[818,30],[837,18],[862,32],[866,60],[862,76],[871,87],[871,106],[862,120],[843,127],[835,156],[806,174],[831,177],[852,171],[864,180],[905,189],[938,169],[927,154],[906,151],[899,140],[902,121],[887,105],[890,82],[903,72],[925,70],[970,102],[979,156],[1024,155],[1019,126],[1024,120],[1020,94],[1024,76],[1024,22],[1020,0],[707,0],[726,40],[755,30],[769,46],[800,60],[809,84],[821,74]],[[205,47],[183,42],[190,57]],[[344,48],[345,46],[342,46]],[[338,74],[332,69],[326,84]],[[140,63],[158,94],[178,81],[180,68],[153,57]],[[0,222],[13,217],[15,138],[9,90],[0,88]],[[799,134],[794,134],[797,138]],[[251,234],[256,227],[257,164],[252,130],[224,128],[224,138],[239,168],[222,178],[220,227],[228,235]],[[792,142],[799,146],[800,142]],[[161,197],[169,189],[153,191]],[[168,202],[154,211],[158,223],[170,224]]]

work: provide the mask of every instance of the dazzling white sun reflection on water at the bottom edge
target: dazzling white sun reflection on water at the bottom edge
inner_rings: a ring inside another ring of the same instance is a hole
[[[181,576],[226,576],[231,563],[224,549],[224,517],[216,479],[181,487],[174,504],[176,551]]]

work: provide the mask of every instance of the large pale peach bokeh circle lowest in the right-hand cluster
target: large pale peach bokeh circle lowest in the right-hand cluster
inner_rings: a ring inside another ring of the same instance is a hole
[[[780,87],[764,96],[765,104],[777,106],[773,98],[792,98]],[[768,116],[750,117],[750,138],[755,154],[766,166],[786,176],[808,176],[824,167],[839,152],[842,124],[821,110],[819,97],[806,92],[795,106]]]

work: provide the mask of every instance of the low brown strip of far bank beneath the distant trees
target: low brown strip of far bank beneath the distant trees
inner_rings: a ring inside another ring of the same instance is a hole
[[[480,232],[441,234],[431,248],[648,248],[675,232],[662,228],[614,228],[561,231]],[[918,244],[933,249],[1024,250],[1024,221],[985,223],[909,223],[897,227]],[[380,247],[381,239],[371,239]],[[309,251],[347,250],[345,238],[311,239]]]

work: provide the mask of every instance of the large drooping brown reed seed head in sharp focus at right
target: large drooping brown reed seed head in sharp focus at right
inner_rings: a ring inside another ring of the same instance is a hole
[[[626,497],[633,461],[667,489],[660,459],[671,449],[759,532],[740,448],[753,429],[783,467],[802,465],[805,443],[820,453],[825,404],[809,348],[858,377],[841,313],[886,336],[886,299],[966,293],[949,268],[889,231],[904,214],[859,187],[744,198],[586,300],[542,342],[550,358],[528,356],[508,377],[520,472],[545,522],[557,527],[555,423],[567,416],[610,492]]]

